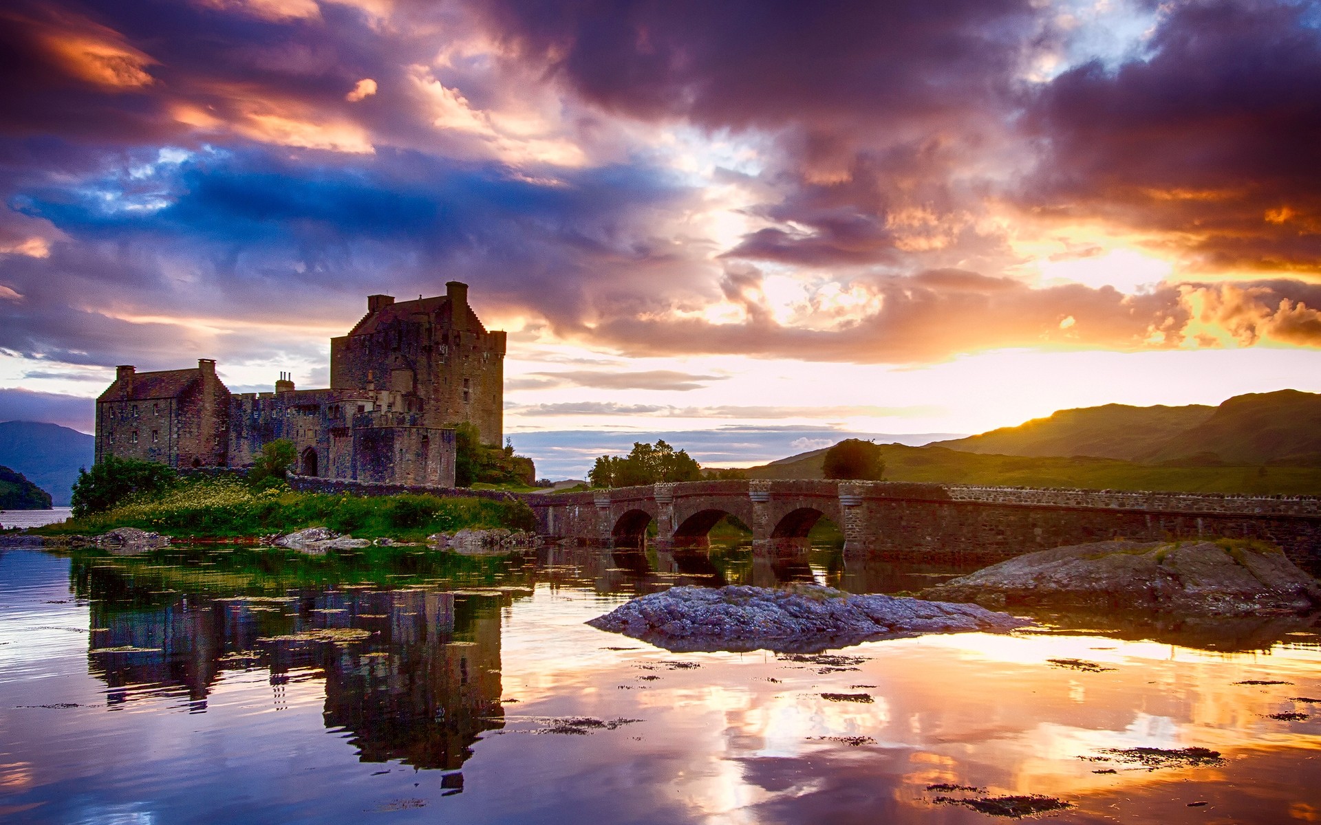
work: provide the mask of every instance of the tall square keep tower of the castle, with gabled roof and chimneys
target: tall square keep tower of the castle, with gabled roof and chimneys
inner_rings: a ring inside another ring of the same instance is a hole
[[[468,306],[468,284],[416,301],[367,296],[367,314],[330,339],[330,388],[403,396],[427,426],[477,425],[485,444],[505,437],[505,333],[487,333]]]

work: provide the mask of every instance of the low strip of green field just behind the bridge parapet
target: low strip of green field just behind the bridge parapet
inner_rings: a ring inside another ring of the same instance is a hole
[[[939,446],[882,445],[885,479],[947,484],[1085,487],[1321,495],[1321,467],[1159,466],[1112,458],[983,455]],[[752,467],[749,478],[822,478],[824,450]]]

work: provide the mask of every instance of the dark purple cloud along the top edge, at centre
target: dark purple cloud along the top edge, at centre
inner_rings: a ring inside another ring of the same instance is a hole
[[[941,119],[1000,95],[1022,0],[485,0],[497,37],[602,108],[729,128]],[[808,128],[811,131],[811,128]],[[835,136],[822,132],[818,147]]]

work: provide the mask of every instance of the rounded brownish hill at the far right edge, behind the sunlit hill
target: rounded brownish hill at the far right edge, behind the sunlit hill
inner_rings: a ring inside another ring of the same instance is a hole
[[[1281,389],[1234,396],[1141,458],[1148,463],[1218,459],[1321,466],[1321,395]]]

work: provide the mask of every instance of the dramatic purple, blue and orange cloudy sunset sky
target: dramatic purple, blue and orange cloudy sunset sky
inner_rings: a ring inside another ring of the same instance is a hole
[[[561,477],[1321,391],[1316,3],[9,0],[0,73],[0,420],[448,280]]]

